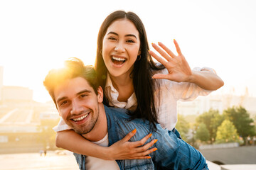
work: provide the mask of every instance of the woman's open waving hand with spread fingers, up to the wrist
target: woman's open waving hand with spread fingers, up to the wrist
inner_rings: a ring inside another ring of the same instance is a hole
[[[152,43],[152,46],[154,49],[159,52],[159,54],[164,57],[159,57],[159,55],[156,55],[156,53],[149,50],[149,54],[154,57],[157,61],[159,61],[161,64],[166,67],[168,70],[168,74],[154,74],[154,79],[169,79],[176,82],[183,82],[183,81],[189,81],[191,79],[191,68],[188,65],[188,62],[186,61],[185,57],[181,53],[181,49],[178,46],[178,42],[174,40],[174,45],[176,47],[176,51],[178,52],[178,55],[174,55],[171,50],[169,50],[168,47],[166,47],[163,43],[158,42],[159,46],[163,49],[161,49],[158,45]]]

